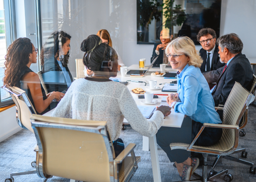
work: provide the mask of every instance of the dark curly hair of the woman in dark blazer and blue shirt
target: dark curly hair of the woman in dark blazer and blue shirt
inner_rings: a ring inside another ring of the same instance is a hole
[[[46,39],[45,44],[41,50],[40,63],[43,66],[46,60],[54,60],[60,56],[60,42],[61,46],[65,44],[71,36],[64,31],[54,31],[48,39]],[[60,61],[64,67],[68,66],[69,51],[64,58],[60,58]],[[59,65],[56,65],[59,68]],[[60,69],[60,68],[59,68]]]

